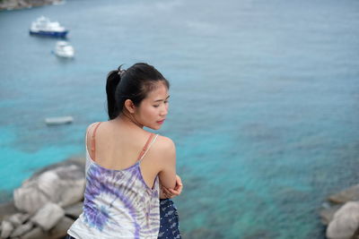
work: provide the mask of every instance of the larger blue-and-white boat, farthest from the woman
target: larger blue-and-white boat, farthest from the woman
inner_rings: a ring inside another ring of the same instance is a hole
[[[50,21],[47,17],[40,16],[32,21],[30,34],[57,38],[66,38],[68,30],[60,25],[58,21]]]

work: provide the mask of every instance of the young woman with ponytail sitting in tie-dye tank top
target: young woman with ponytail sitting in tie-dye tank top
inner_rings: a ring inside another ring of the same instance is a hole
[[[126,71],[120,65],[109,73],[109,121],[86,130],[83,213],[66,238],[180,238],[170,199],[182,190],[175,144],[143,128],[161,128],[169,89],[169,81],[150,64]]]

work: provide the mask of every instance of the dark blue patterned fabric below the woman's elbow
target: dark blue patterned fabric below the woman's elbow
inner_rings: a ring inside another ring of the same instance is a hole
[[[159,239],[181,239],[177,208],[171,199],[160,199]]]

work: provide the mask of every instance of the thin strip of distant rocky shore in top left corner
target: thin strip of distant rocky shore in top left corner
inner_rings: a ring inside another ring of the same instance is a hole
[[[31,8],[48,4],[61,4],[62,0],[0,0],[0,11]]]

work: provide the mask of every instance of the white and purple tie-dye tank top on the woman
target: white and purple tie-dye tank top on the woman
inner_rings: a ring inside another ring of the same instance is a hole
[[[94,135],[92,133],[92,151]],[[97,164],[86,148],[83,212],[67,230],[76,239],[157,238],[160,228],[158,175],[151,189],[140,163],[158,134],[151,133],[136,164],[115,170]],[[86,132],[87,142],[87,132]],[[94,154],[92,154],[94,155]]]

